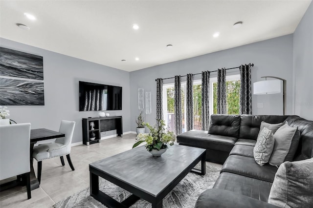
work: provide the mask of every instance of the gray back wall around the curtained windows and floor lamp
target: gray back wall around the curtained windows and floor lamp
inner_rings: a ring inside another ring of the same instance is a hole
[[[276,76],[287,80],[287,114],[292,114],[292,39],[286,35],[262,42],[255,42],[215,53],[166,63],[130,73],[131,88],[131,129],[135,130],[135,118],[139,114],[137,89],[144,88],[152,92],[152,114],[146,115],[146,121],[154,124],[156,118],[156,78],[169,78],[187,73],[200,73],[204,70],[217,70],[221,67],[231,68],[244,63],[254,63],[252,83],[261,81],[262,76]],[[175,45],[174,45],[175,47]],[[239,70],[228,70],[227,74],[238,74]],[[216,72],[211,77],[216,77]],[[194,80],[201,79],[201,75]],[[174,79],[166,80],[174,83]],[[282,93],[271,95],[252,95],[253,114],[282,115]],[[257,108],[263,103],[263,108]]]

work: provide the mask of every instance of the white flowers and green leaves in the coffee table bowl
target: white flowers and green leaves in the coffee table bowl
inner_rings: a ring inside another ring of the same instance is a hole
[[[148,151],[152,151],[153,149],[165,149],[167,148],[166,144],[170,146],[174,145],[176,141],[175,134],[165,128],[165,121],[161,119],[156,119],[156,121],[157,123],[154,126],[144,123],[144,125],[149,128],[150,133],[139,133],[136,138],[137,142],[134,144],[133,148],[143,142],[146,142],[145,146]]]

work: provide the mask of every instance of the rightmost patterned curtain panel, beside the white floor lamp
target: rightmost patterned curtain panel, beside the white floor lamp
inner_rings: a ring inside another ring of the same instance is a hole
[[[240,114],[252,114],[251,65],[240,66]]]

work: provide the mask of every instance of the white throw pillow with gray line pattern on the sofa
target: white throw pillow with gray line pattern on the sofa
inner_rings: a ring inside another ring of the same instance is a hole
[[[271,130],[264,127],[259,132],[259,136],[256,140],[256,144],[253,148],[253,157],[257,164],[263,166],[268,163],[270,155],[274,148],[274,138]]]

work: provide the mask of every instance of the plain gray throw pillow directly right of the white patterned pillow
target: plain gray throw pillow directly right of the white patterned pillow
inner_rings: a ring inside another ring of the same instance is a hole
[[[280,166],[285,161],[292,161],[300,139],[298,129],[286,123],[277,129],[274,139],[274,149],[268,163],[272,166]]]

